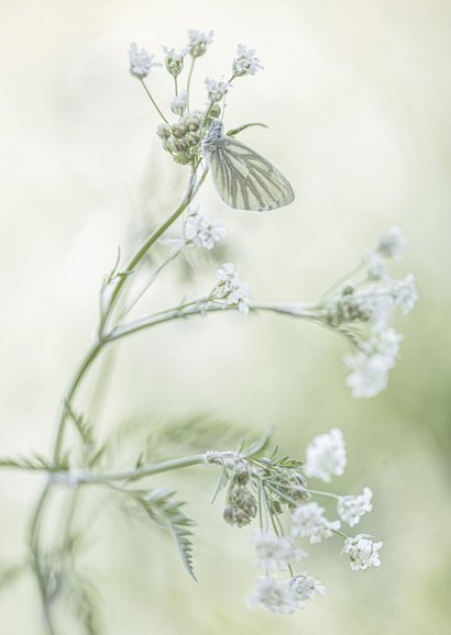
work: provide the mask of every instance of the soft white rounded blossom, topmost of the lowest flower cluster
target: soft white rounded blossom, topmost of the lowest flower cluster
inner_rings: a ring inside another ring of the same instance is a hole
[[[306,449],[304,471],[306,476],[330,482],[332,476],[341,476],[346,467],[346,448],[343,433],[338,427],[315,436]]]

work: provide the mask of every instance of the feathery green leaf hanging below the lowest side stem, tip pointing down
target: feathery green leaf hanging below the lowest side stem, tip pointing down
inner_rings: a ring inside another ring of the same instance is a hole
[[[130,493],[136,494],[136,492]],[[193,532],[190,531],[195,522],[182,511],[185,503],[174,500],[176,492],[165,488],[142,494],[138,492],[139,502],[155,523],[170,530],[182,561],[188,573],[196,580],[193,569]]]

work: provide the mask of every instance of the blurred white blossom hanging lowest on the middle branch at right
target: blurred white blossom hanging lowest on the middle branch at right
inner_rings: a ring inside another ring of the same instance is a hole
[[[344,364],[351,370],[346,385],[355,399],[375,397],[386,389],[388,371],[399,356],[403,335],[393,328],[375,333],[360,345],[354,355],[346,355]],[[307,472],[306,472],[307,474]]]

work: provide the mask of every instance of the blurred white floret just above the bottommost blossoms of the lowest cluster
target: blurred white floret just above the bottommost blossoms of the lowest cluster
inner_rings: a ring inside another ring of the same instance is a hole
[[[258,566],[266,571],[288,569],[290,562],[298,562],[307,554],[299,549],[293,538],[278,537],[273,532],[255,530],[251,543],[258,556]]]

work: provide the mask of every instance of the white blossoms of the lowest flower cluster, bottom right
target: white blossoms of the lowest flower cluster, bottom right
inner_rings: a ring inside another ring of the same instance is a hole
[[[346,465],[346,452],[341,431],[333,428],[315,437],[308,445],[307,457],[304,471],[307,472],[308,469],[311,476],[315,475],[329,482],[332,475],[342,475]],[[252,478],[252,470],[246,468],[245,475],[248,479]],[[305,538],[310,544],[318,544],[323,538],[339,534],[344,537],[342,553],[349,555],[352,570],[381,566],[378,550],[383,545],[382,542],[375,543],[366,534],[346,537],[340,531],[341,522],[352,527],[365,513],[372,511],[373,492],[370,488],[365,487],[358,495],[339,497],[309,490],[306,483],[305,491],[338,499],[337,512],[340,520],[329,521],[324,516],[323,506],[314,501],[305,502],[304,499],[289,506],[292,511],[289,536],[276,535],[271,531],[255,531],[252,544],[256,549],[258,567],[264,570],[266,577],[257,580],[256,594],[249,599],[251,605],[260,604],[273,613],[288,614],[304,609],[306,601],[316,593],[324,594],[326,590],[320,581],[310,578],[306,572],[298,576],[293,573],[293,566],[308,556],[298,547],[298,539]],[[280,513],[280,510],[277,513]],[[280,523],[278,525],[282,528]],[[280,582],[277,572],[287,570],[290,578]]]

